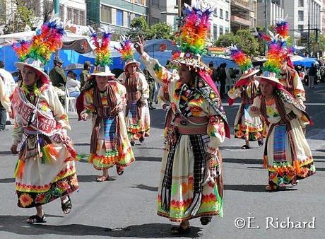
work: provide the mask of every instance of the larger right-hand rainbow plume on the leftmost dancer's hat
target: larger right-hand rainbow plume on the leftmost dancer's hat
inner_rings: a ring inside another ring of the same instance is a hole
[[[32,37],[28,57],[46,64],[52,53],[61,49],[64,35],[64,28],[59,18],[52,16],[49,22],[36,30],[36,35]]]

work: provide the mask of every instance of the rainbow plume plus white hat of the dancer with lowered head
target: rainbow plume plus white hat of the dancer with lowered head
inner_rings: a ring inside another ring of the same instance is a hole
[[[102,26],[100,30],[101,39],[98,39],[98,33],[88,26],[90,30],[90,37],[95,46],[95,69],[93,76],[115,76],[110,71],[112,64],[112,53],[110,51],[110,40],[112,37],[112,29],[107,26]]]

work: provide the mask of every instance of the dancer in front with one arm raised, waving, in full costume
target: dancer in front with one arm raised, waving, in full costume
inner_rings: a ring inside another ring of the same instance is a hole
[[[151,76],[167,86],[170,95],[173,114],[162,157],[158,215],[180,223],[172,227],[175,234],[187,233],[191,218],[201,217],[202,225],[206,225],[212,216],[223,215],[222,159],[218,146],[225,136],[230,136],[210,69],[199,55],[206,47],[213,11],[203,1],[196,2],[193,8],[185,6],[183,52],[175,54],[172,61],[179,67],[179,81],[144,52],[143,39],[139,37],[135,45]]]

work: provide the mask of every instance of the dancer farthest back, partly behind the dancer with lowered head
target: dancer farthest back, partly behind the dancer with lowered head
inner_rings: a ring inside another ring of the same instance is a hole
[[[129,37],[121,37],[121,47],[117,50],[121,52],[125,62],[124,72],[117,80],[126,88],[126,127],[131,145],[134,145],[136,140],[142,143],[144,137],[149,136],[149,86],[146,76],[138,72],[140,62],[134,59]]]

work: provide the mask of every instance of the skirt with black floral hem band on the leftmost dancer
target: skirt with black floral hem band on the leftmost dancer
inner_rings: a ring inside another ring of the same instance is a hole
[[[18,206],[24,208],[41,206],[78,190],[76,158],[64,144],[47,136],[40,136],[42,153],[37,154],[35,138],[28,137],[20,148],[14,173]]]

